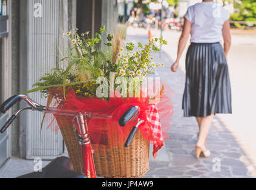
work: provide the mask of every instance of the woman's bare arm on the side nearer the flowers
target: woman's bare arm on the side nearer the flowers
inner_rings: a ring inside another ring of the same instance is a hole
[[[171,71],[176,72],[179,66],[180,57],[182,56],[183,50],[185,49],[186,43],[188,42],[189,34],[191,33],[191,23],[185,18],[184,28],[180,35],[177,58],[173,65],[171,65]]]

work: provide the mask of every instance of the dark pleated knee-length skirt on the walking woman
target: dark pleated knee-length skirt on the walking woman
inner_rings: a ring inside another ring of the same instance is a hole
[[[184,116],[232,113],[229,69],[220,43],[191,43],[186,54]]]

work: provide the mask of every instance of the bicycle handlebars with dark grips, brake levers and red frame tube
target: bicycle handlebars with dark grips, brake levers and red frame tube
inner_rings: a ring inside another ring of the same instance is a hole
[[[79,144],[82,148],[82,160],[83,160],[83,173],[88,178],[96,178],[96,172],[95,172],[95,166],[93,163],[93,156],[92,156],[92,147],[90,143],[90,137],[88,134],[88,126],[86,123],[87,118],[99,118],[99,119],[111,119],[108,115],[99,115],[98,113],[82,113],[82,112],[74,112],[72,110],[58,110],[55,107],[46,107],[39,105],[29,97],[23,95],[23,94],[16,94],[9,99],[5,100],[4,103],[0,106],[0,112],[6,113],[12,106],[14,106],[16,103],[23,101],[28,106],[23,107],[17,111],[14,115],[11,116],[10,119],[2,126],[0,132],[4,133],[7,128],[12,124],[12,122],[17,118],[18,114],[23,112],[24,110],[32,110],[32,111],[39,111],[39,112],[47,112],[52,114],[59,114],[59,115],[65,115],[65,116],[72,116],[73,117],[73,125],[77,123],[79,126],[78,136],[79,136]],[[129,123],[132,119],[138,119],[140,109],[139,106],[131,106],[129,109],[126,110],[126,112],[121,115],[121,117],[118,119],[118,124],[120,126],[126,126],[127,123]],[[126,143],[124,144],[125,147],[128,147],[131,143],[138,126],[141,125],[144,121],[142,119],[138,119],[138,123],[133,126],[132,131],[130,132]],[[74,126],[75,128],[75,126]]]

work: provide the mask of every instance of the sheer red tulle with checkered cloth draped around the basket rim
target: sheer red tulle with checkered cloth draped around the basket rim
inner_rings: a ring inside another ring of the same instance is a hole
[[[66,99],[63,97],[56,98],[56,94],[63,94],[62,88],[50,88],[48,97],[49,107],[58,107],[58,113],[62,110],[72,110],[82,113],[96,113],[98,116],[107,115],[105,119],[91,118],[87,119],[88,133],[92,144],[102,145],[115,145],[116,143],[123,143],[126,141],[132,126],[138,122],[138,118],[143,119],[145,122],[139,125],[139,130],[142,132],[143,137],[150,141],[153,146],[153,156],[157,156],[157,151],[164,145],[164,141],[168,138],[166,132],[171,125],[171,116],[173,115],[173,105],[171,96],[174,91],[171,90],[166,84],[164,85],[164,93],[161,94],[161,99],[158,103],[149,101],[149,97],[113,97],[110,100],[99,99],[96,97],[78,97],[72,88],[66,91]],[[116,94],[116,92],[115,92]],[[51,102],[51,104],[50,104]],[[131,106],[139,106],[140,113],[138,118],[130,121],[126,126],[122,127],[118,124],[118,119],[123,113]],[[46,111],[47,113],[47,111]],[[51,119],[48,128],[53,131],[58,130],[55,118],[58,113]],[[49,119],[49,117],[45,117]],[[73,118],[70,118],[73,119]],[[114,141],[109,141],[106,138],[112,135]]]

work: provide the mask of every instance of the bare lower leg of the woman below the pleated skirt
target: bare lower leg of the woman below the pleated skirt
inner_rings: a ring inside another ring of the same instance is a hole
[[[214,113],[211,113],[211,115],[202,117],[200,121],[199,138],[196,146],[202,148],[203,151],[206,150],[205,139],[207,138],[207,134],[211,126],[211,121],[213,121],[213,116]]]

